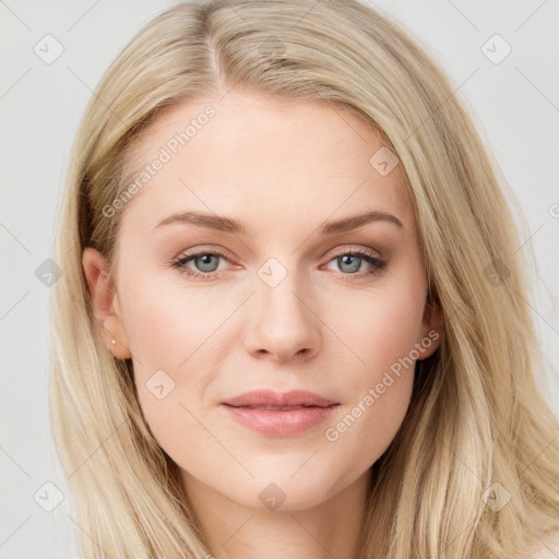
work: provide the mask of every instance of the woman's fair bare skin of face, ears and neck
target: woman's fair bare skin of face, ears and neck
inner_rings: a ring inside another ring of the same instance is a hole
[[[180,466],[215,557],[284,558],[289,550],[350,559],[368,468],[404,419],[414,368],[394,377],[337,440],[328,440],[325,429],[359,402],[362,411],[369,389],[414,344],[419,359],[431,355],[440,335],[429,348],[421,340],[442,329],[440,311],[426,306],[402,165],[382,176],[369,164],[383,144],[355,114],[235,90],[159,117],[139,140],[134,160],[152,162],[209,104],[216,116],[126,205],[115,285],[102,254],[84,250],[95,317],[115,356],[132,357],[144,417]],[[155,228],[179,210],[237,218],[248,235],[185,223]],[[376,221],[318,234],[325,221],[365,211],[388,212],[403,226]],[[185,264],[201,274],[215,270],[210,281],[171,265],[198,248],[226,253]],[[365,259],[336,258],[367,248],[388,262],[376,274]],[[270,258],[287,274],[274,287],[258,274]],[[175,388],[159,400],[146,382],[162,369]],[[262,388],[310,390],[341,405],[307,431],[266,437],[219,407]],[[275,510],[259,499],[271,483],[285,496]]]

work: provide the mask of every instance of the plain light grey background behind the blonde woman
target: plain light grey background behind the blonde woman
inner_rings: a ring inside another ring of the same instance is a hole
[[[132,35],[174,4],[0,0],[0,559],[79,556],[47,417],[49,288],[35,271],[51,255],[69,152],[92,90]],[[559,416],[559,3],[373,4],[412,29],[450,73],[526,216],[522,250],[535,253],[531,305],[547,367],[540,382]],[[63,48],[51,63],[34,51],[56,53],[47,34]],[[499,63],[507,46],[495,34],[512,48]],[[64,496],[51,512],[34,499],[37,491],[53,498],[53,488],[43,487],[48,481]]]

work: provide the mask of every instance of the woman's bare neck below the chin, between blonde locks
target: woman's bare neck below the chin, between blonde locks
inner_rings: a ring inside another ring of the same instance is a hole
[[[216,559],[284,559],[287,551],[307,559],[355,559],[369,474],[311,509],[275,511],[243,507],[186,472],[182,477]]]

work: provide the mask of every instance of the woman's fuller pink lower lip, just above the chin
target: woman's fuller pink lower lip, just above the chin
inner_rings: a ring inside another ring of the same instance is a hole
[[[284,411],[222,406],[236,421],[253,431],[267,437],[293,437],[328,419],[340,404]]]

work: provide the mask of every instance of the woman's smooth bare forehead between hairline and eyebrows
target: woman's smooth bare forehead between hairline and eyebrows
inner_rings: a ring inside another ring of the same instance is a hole
[[[167,110],[133,146],[128,180],[140,188],[123,223],[141,218],[153,227],[177,210],[260,218],[261,225],[280,216],[321,222],[357,210],[409,221],[402,165],[388,174],[378,165],[386,154],[377,129],[340,105],[235,90],[189,100]]]

